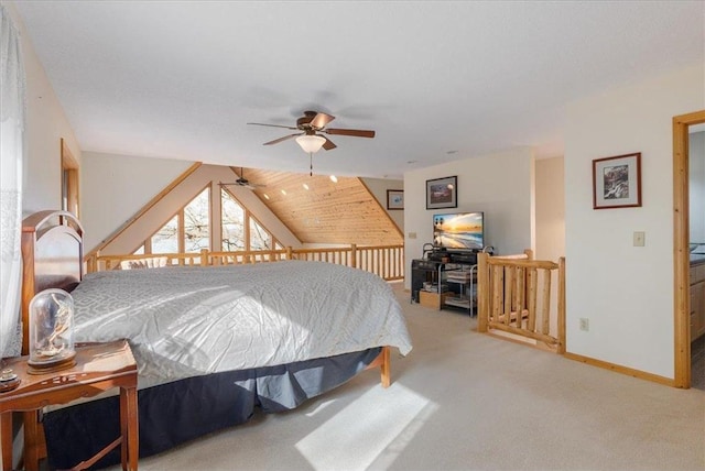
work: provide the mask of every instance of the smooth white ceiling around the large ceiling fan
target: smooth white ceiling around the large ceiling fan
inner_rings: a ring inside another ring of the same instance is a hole
[[[703,1],[18,1],[83,151],[395,177],[514,146],[562,155],[567,102],[705,64]]]

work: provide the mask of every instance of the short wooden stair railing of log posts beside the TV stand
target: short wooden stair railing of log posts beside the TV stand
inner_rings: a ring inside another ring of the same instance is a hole
[[[556,309],[551,309],[553,274],[557,274]],[[558,263],[522,255],[478,254],[477,330],[502,332],[543,342],[565,353],[565,259]]]

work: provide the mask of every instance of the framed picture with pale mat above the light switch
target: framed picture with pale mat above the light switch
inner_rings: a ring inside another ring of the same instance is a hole
[[[641,206],[641,152],[593,161],[593,209]]]

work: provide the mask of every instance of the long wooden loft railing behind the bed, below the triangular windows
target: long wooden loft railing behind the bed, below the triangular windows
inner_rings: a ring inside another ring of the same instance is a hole
[[[101,255],[86,258],[86,272],[130,270],[156,266],[242,265],[249,263],[306,260],[328,262],[375,273],[387,281],[404,278],[404,245],[357,247],[355,244],[327,249],[292,249],[237,252],[159,253],[139,255]]]

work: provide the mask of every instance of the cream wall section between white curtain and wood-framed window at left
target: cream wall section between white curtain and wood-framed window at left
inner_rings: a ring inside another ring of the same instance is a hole
[[[62,138],[79,163],[82,155],[70,123],[34,52],[22,18],[12,2],[0,3],[20,31],[26,77],[26,154],[22,193],[22,211],[26,216],[42,209],[62,207]]]

